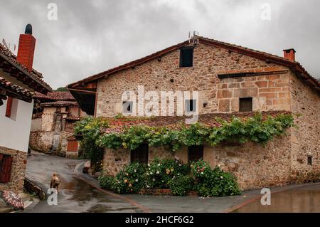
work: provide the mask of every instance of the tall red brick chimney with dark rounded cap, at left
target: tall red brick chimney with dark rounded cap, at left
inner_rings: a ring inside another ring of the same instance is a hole
[[[28,23],[26,31],[24,34],[21,34],[19,38],[18,55],[16,56],[16,60],[30,71],[32,70],[35,47],[36,38],[32,36],[32,26]]]

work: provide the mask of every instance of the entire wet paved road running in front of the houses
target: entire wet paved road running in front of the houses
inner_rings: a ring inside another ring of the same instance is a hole
[[[48,206],[46,201],[41,201],[29,206],[26,212],[277,212],[286,206],[287,201],[291,203],[287,204],[285,211],[288,212],[319,212],[320,207],[320,183],[273,188],[271,206],[260,204],[260,190],[218,198],[117,195],[100,189],[95,179],[82,174],[82,164],[80,160],[41,153],[29,157],[28,179],[48,189],[51,174],[55,171],[62,182],[57,206]]]

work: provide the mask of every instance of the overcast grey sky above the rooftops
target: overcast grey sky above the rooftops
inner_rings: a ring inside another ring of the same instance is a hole
[[[57,20],[48,19],[49,3]],[[319,0],[1,0],[0,38],[18,44],[31,23],[33,68],[53,88],[186,41],[193,30],[277,56],[295,48],[296,60],[320,78],[319,11]]]

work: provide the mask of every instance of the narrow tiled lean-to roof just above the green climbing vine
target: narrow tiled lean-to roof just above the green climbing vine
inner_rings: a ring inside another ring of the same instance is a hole
[[[261,112],[262,120],[265,120],[267,116],[276,117],[280,114],[289,114],[289,111],[266,111]],[[210,113],[199,115],[198,122],[208,127],[220,127],[220,120],[229,121],[231,117],[240,117],[244,120],[248,117],[254,117],[257,112],[233,112],[233,113]],[[123,132],[124,128],[132,127],[133,125],[146,125],[149,127],[161,127],[165,126],[170,129],[180,129],[185,124],[186,118],[184,116],[159,116],[159,117],[105,117],[104,119],[109,122],[110,127],[105,128],[105,133]]]

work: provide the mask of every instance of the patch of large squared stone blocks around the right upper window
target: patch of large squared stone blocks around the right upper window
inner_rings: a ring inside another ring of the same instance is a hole
[[[252,97],[253,111],[290,110],[289,70],[284,68],[268,68],[268,70],[273,70],[277,74],[221,79],[217,85],[218,111],[238,112],[240,97]],[[243,73],[241,70],[230,72]],[[260,70],[255,72],[265,73]]]

